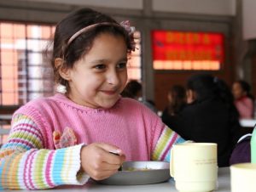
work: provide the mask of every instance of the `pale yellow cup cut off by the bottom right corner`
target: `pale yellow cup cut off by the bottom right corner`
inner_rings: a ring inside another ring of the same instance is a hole
[[[231,191],[255,192],[256,191],[256,164],[239,163],[230,166]]]

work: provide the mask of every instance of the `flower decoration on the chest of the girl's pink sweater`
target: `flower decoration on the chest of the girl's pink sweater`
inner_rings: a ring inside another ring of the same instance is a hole
[[[73,129],[66,127],[64,132],[54,131],[53,133],[55,149],[70,147],[77,144],[77,138]]]

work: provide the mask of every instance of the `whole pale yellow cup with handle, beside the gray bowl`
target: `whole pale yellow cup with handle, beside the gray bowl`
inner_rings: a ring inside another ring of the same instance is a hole
[[[217,144],[175,144],[171,150],[170,173],[182,192],[209,192],[218,179]]]

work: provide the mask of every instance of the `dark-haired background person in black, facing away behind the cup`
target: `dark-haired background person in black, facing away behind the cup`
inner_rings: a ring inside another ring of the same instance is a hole
[[[218,167],[229,166],[241,134],[230,88],[210,74],[196,74],[187,82],[187,100],[172,129],[188,140],[218,144]]]

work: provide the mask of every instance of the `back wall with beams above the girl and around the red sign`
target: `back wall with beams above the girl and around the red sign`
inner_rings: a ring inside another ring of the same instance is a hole
[[[236,76],[234,69],[231,69],[234,65],[232,42],[236,0],[108,0],[108,3],[106,2],[106,0],[0,1],[0,20],[56,23],[65,14],[82,5],[111,14],[116,20],[131,20],[143,35],[143,86],[147,88],[143,90],[143,94],[147,99],[155,100],[160,109],[166,104],[166,91],[172,83],[185,82],[190,73],[160,72],[152,69],[151,30],[224,33],[227,68],[218,75],[226,77],[228,82]]]

